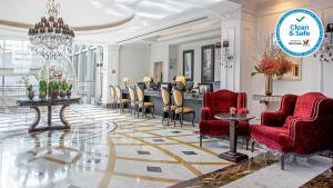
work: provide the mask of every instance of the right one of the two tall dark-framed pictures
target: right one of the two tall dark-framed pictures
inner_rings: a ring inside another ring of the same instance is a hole
[[[214,81],[214,44],[201,48],[201,82]]]

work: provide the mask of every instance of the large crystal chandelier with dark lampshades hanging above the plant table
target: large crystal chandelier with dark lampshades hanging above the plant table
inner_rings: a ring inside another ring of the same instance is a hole
[[[29,29],[31,49],[47,59],[68,55],[72,48],[74,31],[59,16],[60,4],[56,0],[47,2],[47,18]]]

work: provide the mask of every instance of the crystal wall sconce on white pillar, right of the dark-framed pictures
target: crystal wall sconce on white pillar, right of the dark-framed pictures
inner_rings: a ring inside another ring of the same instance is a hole
[[[233,59],[233,56],[230,55],[230,43],[228,40],[223,40],[222,44],[221,42],[218,42],[215,44],[215,48],[219,49],[218,50],[218,59],[221,61],[221,66],[224,67],[224,68],[232,68],[232,59]],[[220,50],[221,49],[221,50]],[[220,55],[219,55],[220,53]]]

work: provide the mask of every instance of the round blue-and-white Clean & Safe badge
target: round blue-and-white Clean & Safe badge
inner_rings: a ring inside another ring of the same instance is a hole
[[[284,13],[275,29],[280,48],[293,57],[307,57],[315,52],[324,39],[321,19],[307,9],[293,9]]]

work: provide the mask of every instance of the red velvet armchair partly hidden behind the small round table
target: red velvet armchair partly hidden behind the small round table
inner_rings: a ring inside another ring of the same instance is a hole
[[[221,137],[229,136],[229,122],[214,118],[216,113],[229,112],[230,108],[236,108],[239,113],[248,113],[246,93],[219,90],[216,92],[205,92],[203,96],[203,107],[201,110],[200,147],[204,136]],[[240,122],[238,135],[246,137],[246,148],[250,140],[249,122]]]

